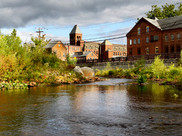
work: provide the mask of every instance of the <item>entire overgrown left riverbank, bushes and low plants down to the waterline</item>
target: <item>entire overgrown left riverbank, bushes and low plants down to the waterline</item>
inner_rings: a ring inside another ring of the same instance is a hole
[[[32,38],[32,42],[22,45],[15,29],[10,35],[0,34],[0,89],[86,80],[72,71],[76,60],[68,57],[63,62],[45,50],[49,41],[44,37]]]

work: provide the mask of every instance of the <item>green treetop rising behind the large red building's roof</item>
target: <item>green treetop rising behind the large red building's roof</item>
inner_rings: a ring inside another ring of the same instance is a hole
[[[158,7],[157,5],[152,6],[152,10],[146,13],[148,18],[154,19],[157,17],[158,19],[164,19],[174,16],[182,15],[182,3],[177,3],[177,7],[174,4],[165,4],[162,7]]]

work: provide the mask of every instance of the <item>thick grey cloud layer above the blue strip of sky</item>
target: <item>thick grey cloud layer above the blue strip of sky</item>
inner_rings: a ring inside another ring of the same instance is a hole
[[[143,16],[151,5],[181,0],[1,0],[0,27],[89,25]]]

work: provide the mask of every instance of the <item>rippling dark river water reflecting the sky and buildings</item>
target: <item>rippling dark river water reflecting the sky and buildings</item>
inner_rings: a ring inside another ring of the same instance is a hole
[[[0,136],[181,136],[182,92],[127,81],[0,91]]]

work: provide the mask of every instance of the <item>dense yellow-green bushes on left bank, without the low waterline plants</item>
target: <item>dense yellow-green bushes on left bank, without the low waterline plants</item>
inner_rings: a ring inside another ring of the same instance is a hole
[[[55,54],[49,54],[45,38],[33,38],[34,44],[22,45],[14,29],[11,35],[0,35],[0,81],[6,84],[25,81],[53,81],[50,71],[61,74],[66,70],[65,63]],[[54,69],[54,70],[53,70]],[[4,85],[6,87],[7,85]]]

